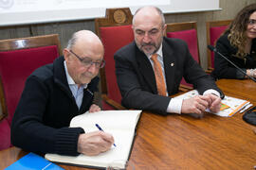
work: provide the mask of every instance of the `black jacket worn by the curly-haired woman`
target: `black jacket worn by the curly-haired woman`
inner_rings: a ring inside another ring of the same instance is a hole
[[[256,39],[252,41],[250,54],[245,59],[241,59],[235,56],[237,48],[230,44],[228,34],[226,33],[218,39],[217,50],[245,72],[247,69],[256,68]],[[214,71],[211,76],[215,78],[245,78],[243,73],[216,53],[214,55]]]

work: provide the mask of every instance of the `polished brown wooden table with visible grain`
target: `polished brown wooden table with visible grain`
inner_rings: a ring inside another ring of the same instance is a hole
[[[223,79],[217,84],[227,95],[248,99],[256,105],[256,83],[251,80]],[[130,161],[135,169],[253,169],[255,128],[244,122],[240,113],[230,118],[207,113],[196,119],[143,111]],[[25,154],[17,147],[1,151],[0,169]]]

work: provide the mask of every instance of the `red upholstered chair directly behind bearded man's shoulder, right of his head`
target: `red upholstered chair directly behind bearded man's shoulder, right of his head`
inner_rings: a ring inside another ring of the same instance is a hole
[[[196,22],[167,24],[166,36],[168,38],[182,39],[187,42],[193,59],[200,64]],[[187,83],[182,78],[179,89],[181,91],[191,90],[192,84]]]

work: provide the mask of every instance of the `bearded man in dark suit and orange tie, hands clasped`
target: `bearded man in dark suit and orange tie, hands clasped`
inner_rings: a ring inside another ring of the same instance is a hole
[[[220,110],[223,93],[192,59],[185,42],[164,37],[166,25],[159,8],[137,9],[133,30],[135,42],[122,47],[114,56],[123,106],[161,114],[200,116],[206,109]],[[200,95],[185,100],[168,96],[178,92],[182,76]]]

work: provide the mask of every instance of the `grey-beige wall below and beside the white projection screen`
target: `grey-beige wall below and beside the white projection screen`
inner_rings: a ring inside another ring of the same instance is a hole
[[[214,20],[233,19],[236,13],[245,6],[256,3],[256,0],[220,0],[220,8],[222,10],[205,11],[205,12],[189,12],[166,14],[166,23],[178,22],[197,22],[199,49],[201,65],[207,68],[207,38],[206,38],[206,22]],[[77,22],[50,23],[44,25],[28,25],[28,26],[7,26],[0,27],[0,40],[10,38],[21,38],[36,35],[45,35],[57,33],[60,36],[61,44],[64,47],[71,34],[77,30],[89,29],[94,31],[94,21],[84,20]],[[0,110],[1,112],[1,110]]]

